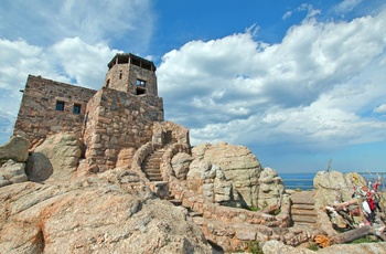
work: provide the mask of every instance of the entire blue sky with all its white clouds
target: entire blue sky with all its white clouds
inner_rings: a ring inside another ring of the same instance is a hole
[[[2,0],[0,142],[28,74],[94,89],[118,52],[158,66],[192,145],[282,172],[386,170],[383,0]]]

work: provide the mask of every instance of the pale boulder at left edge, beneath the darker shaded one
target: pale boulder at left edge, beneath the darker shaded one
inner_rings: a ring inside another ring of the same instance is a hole
[[[11,159],[3,163],[0,167],[0,187],[26,181],[24,168],[25,163]]]

